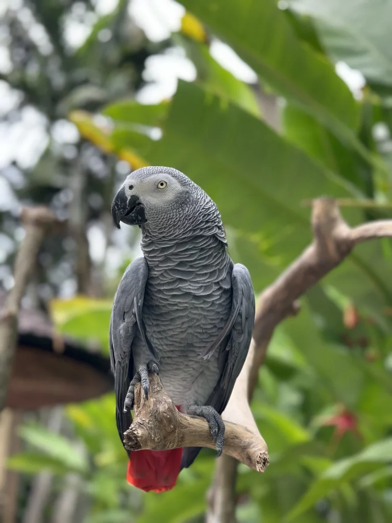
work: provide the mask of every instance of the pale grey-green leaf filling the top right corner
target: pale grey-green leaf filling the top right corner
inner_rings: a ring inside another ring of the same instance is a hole
[[[289,2],[293,9],[316,19],[320,40],[333,60],[358,69],[372,82],[392,85],[390,0]]]

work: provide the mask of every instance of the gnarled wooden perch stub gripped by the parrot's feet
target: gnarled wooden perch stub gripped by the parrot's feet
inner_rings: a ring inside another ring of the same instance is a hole
[[[205,419],[179,412],[159,377],[151,375],[145,399],[140,383],[135,387],[134,420],[124,434],[128,450],[166,450],[180,447],[215,448]],[[266,442],[247,428],[225,422],[224,453],[263,472],[268,465]]]

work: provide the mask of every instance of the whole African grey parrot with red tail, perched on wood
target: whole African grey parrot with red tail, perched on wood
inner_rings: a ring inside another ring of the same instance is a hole
[[[244,365],[255,317],[246,267],[226,252],[215,203],[170,167],[128,175],[112,204],[120,222],[139,225],[144,256],[126,269],[114,297],[110,356],[121,441],[132,423],[134,386],[148,395],[158,372],[181,412],[209,422],[218,454],[223,412]],[[200,448],[130,452],[127,480],[144,491],[172,488]]]

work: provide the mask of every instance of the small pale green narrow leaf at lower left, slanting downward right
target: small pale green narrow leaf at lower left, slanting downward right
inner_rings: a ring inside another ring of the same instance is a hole
[[[75,448],[70,440],[37,424],[23,425],[20,436],[30,445],[37,447],[64,467],[86,473],[88,463],[82,451]]]

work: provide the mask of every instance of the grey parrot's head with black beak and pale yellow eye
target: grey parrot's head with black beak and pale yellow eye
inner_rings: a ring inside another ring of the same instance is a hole
[[[120,222],[139,225],[154,240],[215,234],[226,243],[215,203],[171,167],[142,167],[129,174],[113,200],[112,215],[118,228]]]

